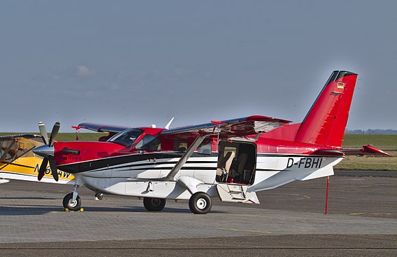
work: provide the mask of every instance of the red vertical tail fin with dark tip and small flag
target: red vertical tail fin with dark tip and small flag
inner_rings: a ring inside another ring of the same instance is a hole
[[[340,147],[348,122],[357,74],[334,71],[304,118],[296,142]]]

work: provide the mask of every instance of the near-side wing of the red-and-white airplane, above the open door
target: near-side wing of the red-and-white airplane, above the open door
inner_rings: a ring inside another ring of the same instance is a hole
[[[211,123],[163,130],[161,134],[165,136],[178,135],[180,138],[188,138],[196,136],[216,137],[219,133],[219,138],[224,139],[269,132],[290,122],[291,121],[283,119],[256,115],[239,119],[230,119],[227,121],[211,121]]]

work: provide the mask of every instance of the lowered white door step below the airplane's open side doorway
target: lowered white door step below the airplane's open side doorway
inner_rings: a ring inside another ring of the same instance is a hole
[[[247,192],[247,185],[217,184],[217,191],[221,201],[259,204],[255,192]]]

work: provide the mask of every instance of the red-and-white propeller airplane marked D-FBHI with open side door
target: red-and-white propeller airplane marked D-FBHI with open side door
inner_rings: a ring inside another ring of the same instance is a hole
[[[188,200],[197,214],[209,212],[216,196],[258,204],[257,191],[333,175],[333,166],[346,155],[388,155],[371,145],[341,147],[356,80],[355,73],[334,71],[302,123],[265,116],[176,129],[82,123],[80,127],[119,133],[106,142],[52,146],[56,123],[49,145],[34,152],[45,158],[42,167],[49,162],[54,178],[57,169],[75,175],[73,192],[63,200],[69,210],[80,208],[79,186],[142,197],[152,211],[162,210],[166,199]]]

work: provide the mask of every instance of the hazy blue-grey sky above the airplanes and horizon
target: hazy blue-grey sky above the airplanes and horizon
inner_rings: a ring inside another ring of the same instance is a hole
[[[1,1],[0,132],[300,122],[333,70],[348,129],[397,129],[397,1]]]

